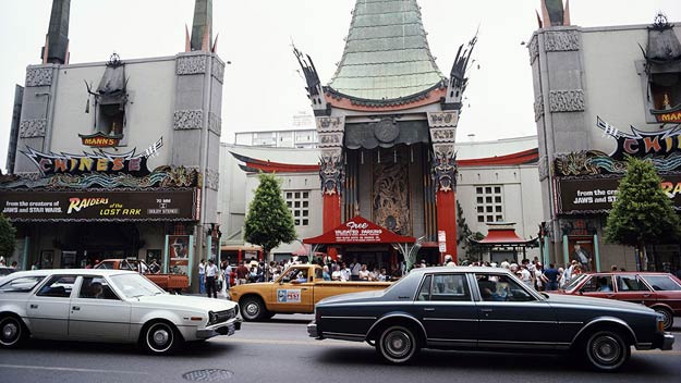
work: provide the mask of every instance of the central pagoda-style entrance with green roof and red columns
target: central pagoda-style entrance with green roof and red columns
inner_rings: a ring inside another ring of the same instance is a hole
[[[400,236],[423,237],[431,263],[457,258],[454,141],[474,45],[475,38],[460,49],[447,78],[416,1],[387,0],[355,3],[327,86],[312,59],[295,50],[319,137],[324,233],[361,215]]]

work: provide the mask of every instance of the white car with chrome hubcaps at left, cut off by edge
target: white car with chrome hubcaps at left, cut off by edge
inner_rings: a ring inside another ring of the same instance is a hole
[[[241,329],[229,300],[170,295],[121,270],[35,270],[0,282],[0,346],[44,339],[137,343],[166,354]]]

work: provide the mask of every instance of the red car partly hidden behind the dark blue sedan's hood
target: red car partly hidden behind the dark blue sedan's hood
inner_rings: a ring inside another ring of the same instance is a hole
[[[669,273],[601,272],[580,274],[559,292],[645,305],[665,316],[665,330],[681,317],[681,281]]]

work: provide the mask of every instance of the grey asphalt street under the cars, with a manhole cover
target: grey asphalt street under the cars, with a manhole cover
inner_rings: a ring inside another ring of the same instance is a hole
[[[312,319],[293,314],[246,322],[234,336],[191,344],[167,357],[130,345],[31,341],[21,349],[0,350],[0,382],[681,382],[681,319],[672,330],[672,351],[633,351],[618,373],[589,371],[564,355],[431,350],[396,367],[367,344],[307,337]]]

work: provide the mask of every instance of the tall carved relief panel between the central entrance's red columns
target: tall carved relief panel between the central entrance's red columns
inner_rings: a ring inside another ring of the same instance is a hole
[[[374,166],[374,222],[400,235],[411,235],[408,174],[402,157]]]

